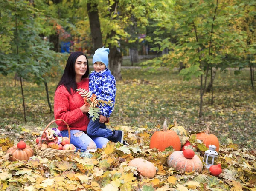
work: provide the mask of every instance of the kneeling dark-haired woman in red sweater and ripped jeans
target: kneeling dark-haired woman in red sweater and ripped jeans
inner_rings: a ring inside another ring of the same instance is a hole
[[[102,148],[109,141],[103,137],[89,137],[85,133],[90,121],[87,117],[88,107],[84,105],[84,99],[76,89],[89,91],[88,75],[87,57],[79,51],[71,53],[54,96],[54,117],[67,122],[70,127],[70,143],[81,151]],[[56,124],[62,136],[68,137],[66,124],[60,120]]]

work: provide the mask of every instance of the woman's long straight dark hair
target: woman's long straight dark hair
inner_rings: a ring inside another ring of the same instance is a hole
[[[65,88],[67,89],[67,91],[70,94],[71,94],[71,89],[73,90],[73,92],[76,91],[77,86],[76,86],[75,63],[76,63],[77,57],[79,57],[81,55],[85,56],[86,61],[87,61],[87,70],[86,70],[85,74],[82,76],[82,78],[86,78],[89,76],[89,63],[88,63],[87,56],[80,51],[72,52],[67,59],[66,67],[64,69],[63,75],[62,75],[61,80],[59,81],[56,89],[59,86],[65,86]]]

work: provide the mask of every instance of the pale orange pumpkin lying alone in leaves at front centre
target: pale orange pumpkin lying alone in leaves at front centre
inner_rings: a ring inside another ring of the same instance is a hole
[[[153,178],[157,173],[157,169],[153,163],[141,158],[131,160],[128,166],[136,167],[143,177]]]

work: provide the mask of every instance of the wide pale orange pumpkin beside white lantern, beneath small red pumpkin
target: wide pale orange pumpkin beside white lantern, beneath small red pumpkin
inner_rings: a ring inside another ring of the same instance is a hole
[[[175,171],[184,172],[201,172],[203,169],[203,163],[200,158],[195,155],[192,159],[187,159],[183,155],[183,151],[174,151],[167,159],[167,164]]]

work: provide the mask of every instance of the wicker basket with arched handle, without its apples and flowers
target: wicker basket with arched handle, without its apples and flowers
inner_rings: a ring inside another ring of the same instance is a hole
[[[58,121],[58,120],[61,120],[61,119],[53,120],[52,122],[50,122],[44,129],[44,132],[47,130],[47,128],[52,123],[54,123],[55,121]],[[66,123],[67,130],[68,130],[68,137],[70,138],[70,128],[69,128],[67,122],[64,120],[61,120],[61,121]],[[43,132],[43,134],[44,134],[44,132]],[[54,158],[56,156],[67,156],[69,154],[73,154],[76,151],[76,149],[74,149],[74,150],[58,150],[58,149],[46,148],[46,147],[41,147],[41,144],[42,144],[42,140],[40,141],[40,146],[35,144],[35,153],[37,155],[39,155],[40,157]]]

